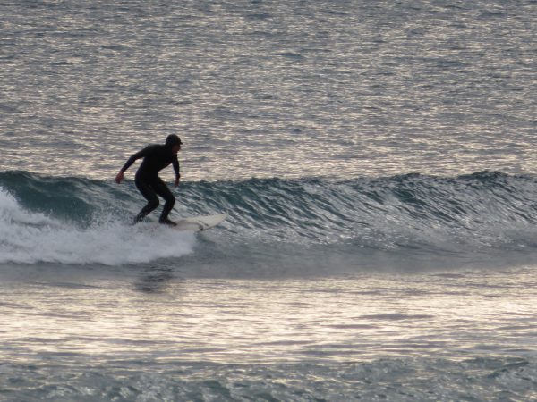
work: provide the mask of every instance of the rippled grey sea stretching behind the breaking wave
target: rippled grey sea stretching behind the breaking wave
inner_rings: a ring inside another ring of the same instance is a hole
[[[535,172],[531,0],[2,7],[2,169],[111,177],[177,130],[185,180]]]

